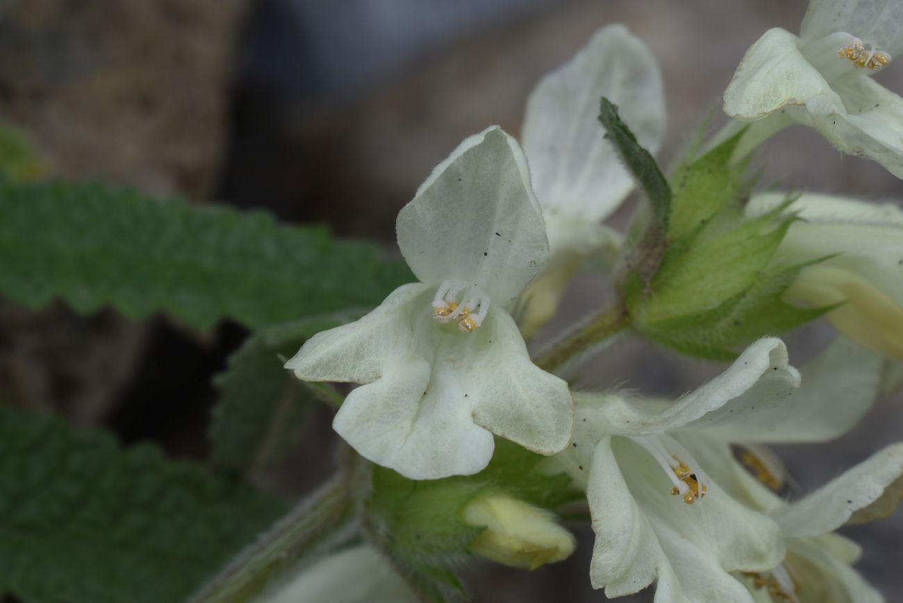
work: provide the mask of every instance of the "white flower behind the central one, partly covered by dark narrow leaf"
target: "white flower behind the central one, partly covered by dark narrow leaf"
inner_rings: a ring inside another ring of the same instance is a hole
[[[623,25],[609,25],[526,103],[524,151],[543,208],[552,260],[525,292],[529,333],[551,317],[564,286],[591,255],[613,256],[619,235],[601,224],[633,190],[633,180],[599,123],[600,98],[651,153],[665,137],[665,92],[655,56]]]

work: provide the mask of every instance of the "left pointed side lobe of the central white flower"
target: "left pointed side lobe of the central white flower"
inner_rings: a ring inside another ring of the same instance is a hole
[[[418,298],[430,290],[421,283],[405,284],[391,292],[379,306],[350,324],[317,333],[285,363],[285,368],[305,381],[370,383],[378,379],[391,359],[412,354],[414,316]]]

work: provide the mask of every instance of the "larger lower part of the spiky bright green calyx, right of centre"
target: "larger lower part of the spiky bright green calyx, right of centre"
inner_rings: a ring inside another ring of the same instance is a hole
[[[651,276],[638,264],[621,283],[635,327],[686,354],[728,360],[754,339],[820,316],[821,307],[782,299],[802,267],[773,262],[793,219],[779,208],[749,219],[729,208],[668,241]]]

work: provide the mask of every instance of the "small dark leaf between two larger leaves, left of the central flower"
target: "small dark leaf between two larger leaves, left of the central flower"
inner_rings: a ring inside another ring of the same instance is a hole
[[[295,320],[250,336],[229,357],[226,371],[213,380],[220,393],[209,432],[213,462],[253,473],[278,459],[297,440],[312,405],[329,395],[331,387],[299,381],[284,369],[285,359],[298,351],[304,339],[365,312],[349,310]]]

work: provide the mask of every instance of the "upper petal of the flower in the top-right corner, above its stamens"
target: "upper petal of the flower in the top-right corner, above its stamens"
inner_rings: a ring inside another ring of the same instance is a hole
[[[811,0],[800,35],[814,40],[847,32],[893,57],[903,51],[903,4],[898,0]]]

